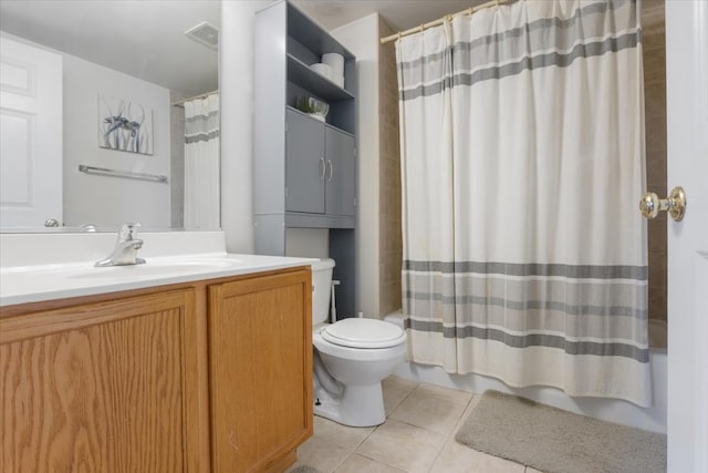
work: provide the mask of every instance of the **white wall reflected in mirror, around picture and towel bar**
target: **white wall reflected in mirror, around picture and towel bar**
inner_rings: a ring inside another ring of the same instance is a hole
[[[70,54],[63,58],[64,224],[112,228],[116,222],[144,222],[149,223],[147,228],[168,228],[169,184],[86,175],[77,167],[86,164],[169,177],[169,90]],[[98,147],[100,95],[153,110],[152,156]]]

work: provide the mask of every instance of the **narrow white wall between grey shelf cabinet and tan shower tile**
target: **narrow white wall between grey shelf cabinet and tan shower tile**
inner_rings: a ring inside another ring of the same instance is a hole
[[[358,208],[356,215],[357,310],[378,318],[379,308],[379,225],[378,225],[378,13],[369,14],[331,31],[356,55],[356,133],[358,156]]]

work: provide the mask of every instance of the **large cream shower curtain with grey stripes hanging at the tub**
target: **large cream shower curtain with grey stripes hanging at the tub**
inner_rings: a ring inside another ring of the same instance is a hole
[[[397,41],[413,361],[650,405],[635,1],[525,1]]]

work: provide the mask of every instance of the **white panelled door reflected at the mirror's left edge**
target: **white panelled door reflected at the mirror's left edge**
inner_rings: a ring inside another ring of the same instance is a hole
[[[62,56],[0,38],[0,227],[62,222]]]

